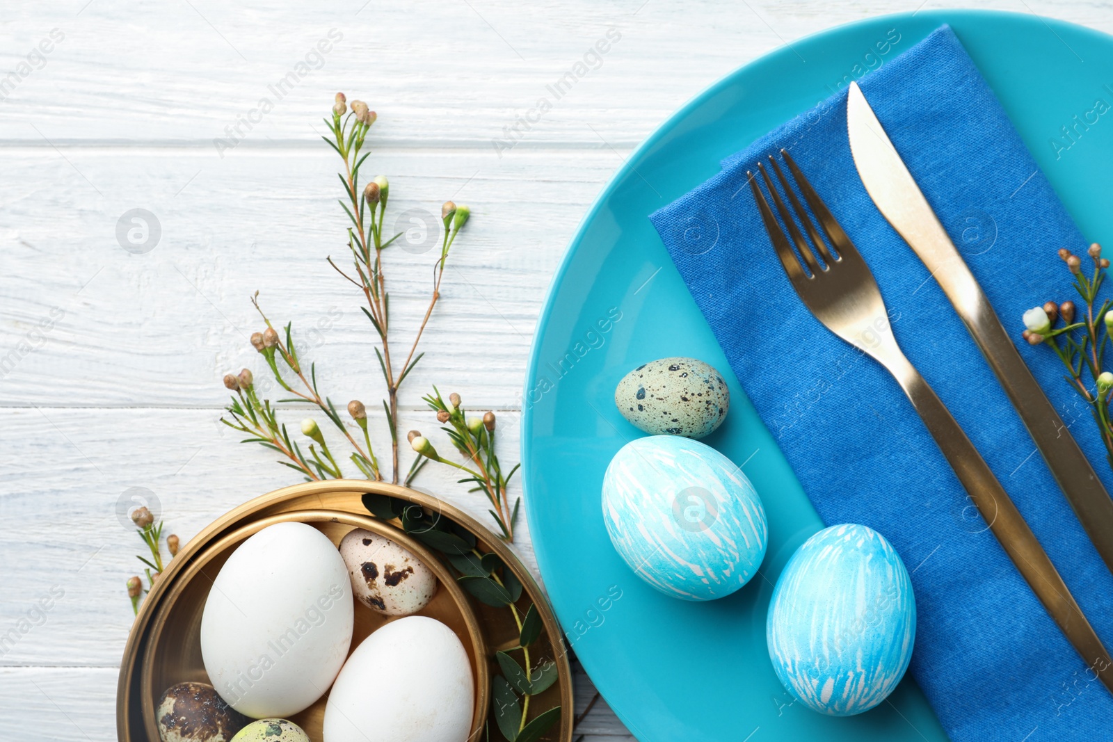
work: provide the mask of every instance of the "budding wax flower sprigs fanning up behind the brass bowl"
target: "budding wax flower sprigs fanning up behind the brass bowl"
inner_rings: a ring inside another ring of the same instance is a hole
[[[434,388],[434,394],[425,400],[437,410],[437,418],[442,423],[451,422],[451,426],[443,429],[449,433],[453,445],[465,456],[467,465],[462,466],[441,458],[435,454],[432,444],[424,438],[422,438],[425,441],[424,449],[415,448],[417,455],[413,456],[407,465],[400,461],[400,451],[404,449],[398,441],[398,399],[402,385],[424,356],[424,353],[418,352],[418,345],[433,316],[433,309],[441,299],[445,265],[456,237],[471,217],[471,210],[451,200],[441,207],[441,249],[431,266],[433,276],[429,303],[416,332],[407,344],[401,346],[400,352],[400,346],[395,344],[395,337],[391,334],[391,296],[384,254],[403,233],[387,235],[384,230],[391,197],[391,185],[387,179],[376,176],[366,182],[361,181],[362,168],[370,155],[364,151],[364,141],[376,118],[375,112],[368,110],[363,101],[353,100],[349,106],[344,93],[336,93],[332,116],[325,119],[331,136],[323,139],[343,161],[342,171],[338,174],[343,190],[339,205],[346,217],[344,241],[348,251],[344,260],[334,260],[332,256],[327,257],[327,260],[358,293],[359,308],[374,333],[375,358],[385,390],[382,410],[391,434],[390,453],[381,457],[372,446],[367,405],[359,399],[348,402],[347,415],[351,419],[346,421],[337,412],[333,400],[321,393],[316,364],[312,362],[306,364],[302,358],[292,324],[287,323],[284,326],[273,324],[259,306],[258,293],[252,297],[252,303],[265,328],[253,334],[250,343],[263,356],[270,376],[285,396],[274,403],[262,398],[250,369],[245,368],[238,374],[228,374],[224,377],[224,384],[233,392],[233,397],[226,407],[228,416],[223,417],[221,422],[246,434],[243,443],[256,443],[279,454],[279,463],[295,469],[308,481],[357,476],[384,482],[390,477],[388,481],[394,484],[401,482],[408,485],[430,461],[463,469],[469,477],[462,482],[471,482],[475,485],[472,487],[473,492],[483,491],[486,494],[492,505],[491,515],[502,531],[503,538],[511,541],[518,516],[518,502],[511,506],[506,498],[506,486],[518,467],[511,469],[510,474],[502,473],[494,451],[493,414],[487,413],[485,417],[465,421],[459,403],[445,404]],[[459,400],[459,395],[453,397]],[[278,410],[286,404],[306,403],[324,415],[327,425],[318,424],[317,419],[307,417],[301,423],[301,433],[304,437],[298,439],[296,432],[292,435],[286,423],[279,419]],[[343,453],[329,445],[322,425],[325,425],[326,429],[335,428],[344,437]],[[426,451],[433,452],[433,455],[429,455]]]

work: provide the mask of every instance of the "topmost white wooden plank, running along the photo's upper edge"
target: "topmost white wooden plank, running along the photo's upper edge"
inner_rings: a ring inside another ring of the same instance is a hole
[[[943,4],[963,3],[928,7]],[[1032,8],[1113,30],[1113,11],[1103,3],[983,6]],[[3,21],[11,41],[2,69],[27,75],[3,91],[0,138],[188,139],[213,154],[214,139],[230,139],[226,128],[248,142],[309,141],[333,92],[343,89],[378,110],[392,141],[482,142],[492,156],[491,142],[500,139],[629,146],[696,92],[786,40],[910,9],[899,0],[418,0],[362,8],[332,0],[282,12],[218,0],[127,9],[31,3],[10,9]],[[38,57],[43,42],[51,51]],[[847,60],[853,65],[856,55]],[[273,107],[266,112],[264,99]]]

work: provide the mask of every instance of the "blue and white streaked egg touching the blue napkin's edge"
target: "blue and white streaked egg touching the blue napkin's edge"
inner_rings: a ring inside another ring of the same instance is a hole
[[[915,639],[908,571],[864,525],[833,525],[808,538],[772,591],[769,659],[788,692],[820,713],[849,716],[884,701]]]

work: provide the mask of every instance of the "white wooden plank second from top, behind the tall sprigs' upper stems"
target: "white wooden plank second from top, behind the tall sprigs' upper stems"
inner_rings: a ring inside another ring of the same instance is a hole
[[[325,260],[351,267],[335,200],[338,158],[323,142],[224,162],[180,149],[22,148],[6,164],[0,405],[220,405],[225,373],[264,367],[247,342],[264,326],[248,300],[262,289],[269,316],[295,320],[306,358],[321,362],[322,388],[337,403],[358,396],[378,407],[382,376],[362,295]],[[440,247],[421,243],[410,217],[439,226],[447,198],[473,208],[405,405],[423,406],[432,384],[489,406],[516,404],[553,269],[619,165],[611,151],[575,149],[502,162],[453,149],[367,160],[371,172],[391,177],[387,228],[411,240],[384,258],[395,366],[427,306]],[[142,255],[116,236],[135,207],[161,228]]]

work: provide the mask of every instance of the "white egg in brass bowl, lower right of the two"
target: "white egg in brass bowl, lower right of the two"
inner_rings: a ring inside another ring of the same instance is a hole
[[[325,742],[466,742],[475,686],[456,634],[406,616],[365,639],[328,694]]]

